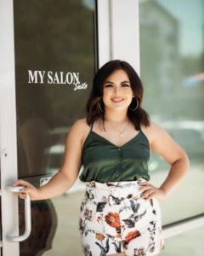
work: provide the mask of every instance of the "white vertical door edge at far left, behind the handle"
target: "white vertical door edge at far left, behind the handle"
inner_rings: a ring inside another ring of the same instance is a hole
[[[0,146],[3,255],[19,256],[19,242],[6,236],[19,236],[18,196],[5,192],[17,179],[17,140],[14,75],[14,10],[12,0],[0,1]],[[5,152],[7,156],[5,156]]]

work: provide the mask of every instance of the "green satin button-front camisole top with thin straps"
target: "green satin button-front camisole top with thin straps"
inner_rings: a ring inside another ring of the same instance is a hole
[[[93,124],[82,147],[84,169],[79,177],[82,182],[135,181],[139,177],[150,180],[147,166],[150,143],[141,128],[121,147],[99,136],[92,128]]]

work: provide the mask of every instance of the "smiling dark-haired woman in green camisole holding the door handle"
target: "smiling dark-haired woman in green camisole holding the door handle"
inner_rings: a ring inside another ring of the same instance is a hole
[[[71,188],[83,164],[79,230],[86,256],[156,256],[165,247],[157,199],[176,189],[190,161],[167,131],[150,122],[141,108],[143,93],[126,61],[105,63],[94,77],[87,118],[77,120],[66,138],[59,172],[40,189],[14,183],[25,186],[33,201],[52,198]],[[148,182],[150,148],[172,166],[160,188]]]

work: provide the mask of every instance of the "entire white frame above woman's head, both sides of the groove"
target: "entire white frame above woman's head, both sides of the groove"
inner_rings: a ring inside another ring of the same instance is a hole
[[[127,61],[139,74],[139,0],[98,0],[99,68]]]

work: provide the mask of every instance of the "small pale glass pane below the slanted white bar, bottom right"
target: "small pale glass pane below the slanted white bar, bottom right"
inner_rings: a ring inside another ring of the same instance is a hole
[[[165,239],[163,256],[201,256],[204,251],[204,226]]]

